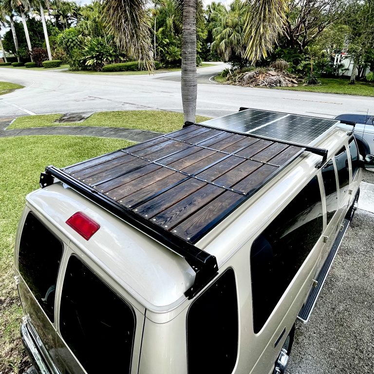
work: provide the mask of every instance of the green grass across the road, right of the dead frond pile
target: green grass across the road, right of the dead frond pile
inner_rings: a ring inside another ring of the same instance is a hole
[[[308,91],[322,93],[342,93],[345,95],[374,96],[374,84],[358,82],[349,85],[348,79],[320,78],[320,86],[297,86],[297,87],[276,87],[281,90]]]

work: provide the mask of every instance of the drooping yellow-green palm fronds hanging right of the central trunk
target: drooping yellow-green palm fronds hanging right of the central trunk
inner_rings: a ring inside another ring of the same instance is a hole
[[[277,41],[286,19],[287,0],[247,0],[247,3],[244,57],[256,62],[266,57]]]

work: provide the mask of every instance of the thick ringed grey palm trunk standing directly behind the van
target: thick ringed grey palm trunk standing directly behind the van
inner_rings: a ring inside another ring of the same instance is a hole
[[[183,1],[181,91],[185,121],[195,122],[196,74],[196,0]]]

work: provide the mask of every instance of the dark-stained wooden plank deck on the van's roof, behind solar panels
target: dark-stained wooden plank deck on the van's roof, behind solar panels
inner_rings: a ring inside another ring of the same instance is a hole
[[[191,125],[63,172],[196,243],[305,149]]]

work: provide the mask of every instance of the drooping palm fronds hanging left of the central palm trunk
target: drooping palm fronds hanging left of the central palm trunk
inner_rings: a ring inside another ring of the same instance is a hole
[[[146,0],[101,0],[103,18],[117,45],[153,71],[150,22]]]

